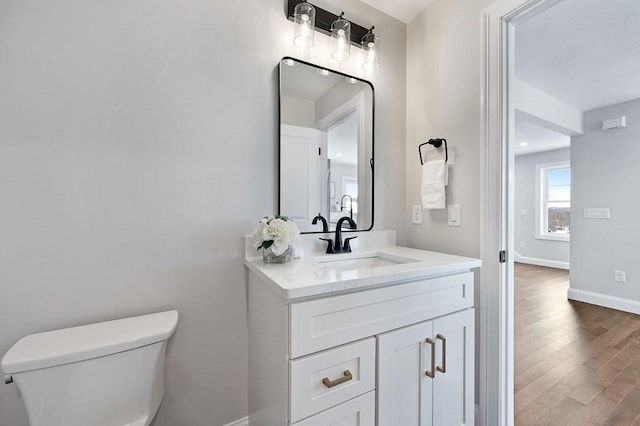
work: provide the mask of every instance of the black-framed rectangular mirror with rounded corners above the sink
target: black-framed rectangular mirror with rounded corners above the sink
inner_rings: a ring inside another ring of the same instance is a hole
[[[373,86],[303,61],[280,62],[280,214],[304,233],[348,216],[373,226]]]

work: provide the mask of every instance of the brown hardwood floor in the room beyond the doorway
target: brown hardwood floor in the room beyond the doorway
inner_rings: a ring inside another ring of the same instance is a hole
[[[640,426],[640,316],[567,300],[568,271],[515,275],[515,424]]]

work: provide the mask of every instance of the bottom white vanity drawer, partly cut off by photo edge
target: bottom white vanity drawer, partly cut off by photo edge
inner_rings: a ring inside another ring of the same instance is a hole
[[[376,393],[359,396],[292,426],[374,426],[376,422]]]

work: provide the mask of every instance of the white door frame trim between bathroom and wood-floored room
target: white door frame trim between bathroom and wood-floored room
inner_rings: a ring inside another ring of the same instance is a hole
[[[509,102],[514,27],[561,0],[499,0],[481,14],[481,224],[479,418],[481,425],[514,423],[513,372],[513,140]],[[507,253],[500,263],[499,253]]]

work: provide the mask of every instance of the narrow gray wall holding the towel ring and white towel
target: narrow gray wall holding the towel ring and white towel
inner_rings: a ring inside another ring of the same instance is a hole
[[[480,15],[492,2],[438,0],[407,27],[404,220],[412,247],[480,255]],[[411,205],[421,204],[418,145],[436,137],[457,151],[446,197],[460,204],[459,228],[447,225],[446,210],[424,210],[422,225],[411,224]]]

